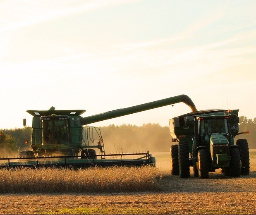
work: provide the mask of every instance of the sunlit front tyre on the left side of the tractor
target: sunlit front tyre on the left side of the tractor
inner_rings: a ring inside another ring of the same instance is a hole
[[[199,150],[197,160],[199,162],[199,169],[198,169],[199,178],[208,179],[209,178],[208,151],[205,149]]]

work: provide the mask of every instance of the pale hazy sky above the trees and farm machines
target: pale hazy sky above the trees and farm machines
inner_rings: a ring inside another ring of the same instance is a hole
[[[0,0],[0,128],[26,110],[83,117],[185,94],[256,117],[256,1]],[[159,123],[184,103],[91,124]]]

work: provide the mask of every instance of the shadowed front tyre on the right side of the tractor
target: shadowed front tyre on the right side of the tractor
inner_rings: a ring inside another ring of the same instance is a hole
[[[230,177],[240,177],[241,175],[241,163],[239,148],[230,148]]]

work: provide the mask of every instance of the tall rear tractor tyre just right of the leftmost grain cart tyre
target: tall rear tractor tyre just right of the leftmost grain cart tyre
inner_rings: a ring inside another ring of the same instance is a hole
[[[179,143],[179,177],[188,178],[190,177],[190,160],[189,160],[189,144]]]

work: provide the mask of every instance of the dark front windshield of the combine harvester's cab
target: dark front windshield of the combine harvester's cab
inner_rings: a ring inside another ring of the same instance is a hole
[[[43,143],[56,144],[69,142],[68,120],[42,120]]]

